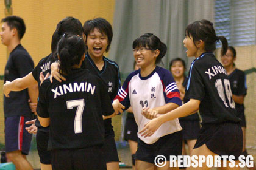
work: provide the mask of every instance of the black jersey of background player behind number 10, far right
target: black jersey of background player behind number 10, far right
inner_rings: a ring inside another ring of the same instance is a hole
[[[246,95],[247,86],[246,86],[246,75],[243,71],[235,69],[229,76],[230,86],[232,94],[234,95]],[[236,111],[238,114],[244,113],[244,104],[235,103]]]

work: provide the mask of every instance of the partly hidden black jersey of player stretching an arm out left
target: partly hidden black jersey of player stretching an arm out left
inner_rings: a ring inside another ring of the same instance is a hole
[[[47,73],[51,73],[51,64],[55,61],[54,57],[52,57],[52,54],[49,54],[48,56],[42,58],[37,66],[32,70],[32,75],[37,80],[38,82],[38,87],[40,87],[40,73],[43,72],[43,75],[46,76]],[[35,121],[35,126],[38,127],[38,131],[44,131],[48,132],[49,127],[43,127],[41,126],[40,122],[38,119]]]

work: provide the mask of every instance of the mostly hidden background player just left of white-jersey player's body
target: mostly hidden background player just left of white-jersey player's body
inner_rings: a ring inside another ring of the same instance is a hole
[[[136,61],[133,63],[133,69],[138,70]],[[124,125],[124,140],[128,141],[130,153],[132,154],[132,169],[135,169],[135,153],[138,146],[138,125],[134,119],[132,107],[127,110],[126,124]]]

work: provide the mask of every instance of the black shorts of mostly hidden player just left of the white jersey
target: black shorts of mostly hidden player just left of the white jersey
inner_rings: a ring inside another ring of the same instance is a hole
[[[134,119],[134,117],[126,118],[126,125],[124,126],[124,140],[133,140],[138,141],[138,125]]]

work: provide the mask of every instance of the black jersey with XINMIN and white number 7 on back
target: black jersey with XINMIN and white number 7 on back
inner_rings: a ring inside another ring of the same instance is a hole
[[[50,117],[48,149],[86,148],[104,143],[102,115],[114,112],[101,78],[74,69],[61,83],[45,80],[39,90],[37,112]]]

